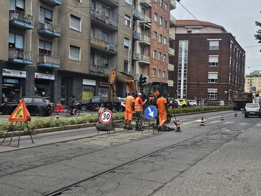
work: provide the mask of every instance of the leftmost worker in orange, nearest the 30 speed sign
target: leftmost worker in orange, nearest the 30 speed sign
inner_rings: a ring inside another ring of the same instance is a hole
[[[124,125],[123,129],[133,129],[130,127],[130,122],[133,120],[133,110],[135,104],[135,95],[136,93],[133,91],[129,96],[126,97],[125,100],[125,117],[124,117]],[[127,126],[126,126],[127,124]]]

